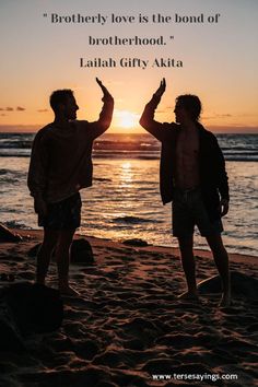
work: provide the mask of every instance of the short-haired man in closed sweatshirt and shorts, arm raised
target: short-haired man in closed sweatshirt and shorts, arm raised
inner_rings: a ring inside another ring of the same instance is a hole
[[[93,141],[112,121],[114,99],[102,82],[103,108],[95,122],[77,120],[79,109],[71,90],[57,90],[50,96],[55,120],[40,129],[33,142],[27,185],[34,197],[44,241],[37,256],[36,282],[45,283],[55,250],[59,290],[77,295],[69,284],[70,246],[80,226],[80,189],[92,185]]]

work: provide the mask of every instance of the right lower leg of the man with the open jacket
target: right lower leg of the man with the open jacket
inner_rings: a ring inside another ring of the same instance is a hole
[[[207,242],[212,250],[213,258],[221,275],[222,281],[222,300],[221,306],[230,306],[231,304],[231,278],[228,268],[228,256],[223,245],[221,234],[207,236]]]

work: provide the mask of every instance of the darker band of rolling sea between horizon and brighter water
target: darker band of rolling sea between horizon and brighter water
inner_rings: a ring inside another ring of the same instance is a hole
[[[34,134],[0,133],[0,156],[28,157]],[[258,136],[218,134],[227,161],[258,161]],[[104,133],[95,140],[94,159],[160,159],[160,142],[148,133]]]

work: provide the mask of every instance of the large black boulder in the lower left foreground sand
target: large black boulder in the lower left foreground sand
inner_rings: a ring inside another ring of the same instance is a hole
[[[26,350],[24,336],[50,332],[61,326],[63,305],[59,292],[30,282],[0,291],[0,352]]]

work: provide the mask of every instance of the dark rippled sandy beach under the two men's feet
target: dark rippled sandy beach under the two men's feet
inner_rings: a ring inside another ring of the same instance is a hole
[[[0,271],[33,281],[27,253],[42,232],[16,232],[23,242],[0,244]],[[257,257],[230,255],[233,304],[219,308],[214,281],[200,288],[199,304],[177,300],[185,281],[176,248],[86,239],[94,265],[70,270],[81,296],[63,298],[58,331],[27,338],[22,355],[0,352],[1,386],[256,385]],[[196,256],[198,282],[216,275],[210,253]],[[56,286],[55,263],[47,284]]]

